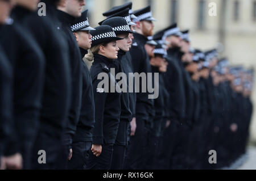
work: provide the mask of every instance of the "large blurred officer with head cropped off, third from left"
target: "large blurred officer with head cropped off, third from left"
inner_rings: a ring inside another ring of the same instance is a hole
[[[60,30],[56,17],[56,1],[46,3],[47,16],[28,15],[26,25],[46,57],[40,126],[32,153],[33,169],[57,169],[57,157],[61,150],[61,137],[67,120],[71,94],[68,44]],[[47,153],[46,163],[38,163],[38,151]]]

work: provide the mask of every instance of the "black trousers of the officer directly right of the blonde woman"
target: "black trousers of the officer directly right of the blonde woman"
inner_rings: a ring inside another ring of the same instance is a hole
[[[122,170],[124,168],[126,151],[126,145],[114,145],[111,170]]]

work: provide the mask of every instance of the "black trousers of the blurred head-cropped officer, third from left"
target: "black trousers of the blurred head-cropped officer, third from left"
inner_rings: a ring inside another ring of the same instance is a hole
[[[61,140],[52,138],[44,133],[39,133],[32,149],[32,169],[54,170],[61,169],[58,165],[59,154],[63,151]],[[46,151],[46,163],[39,163],[39,150]]]

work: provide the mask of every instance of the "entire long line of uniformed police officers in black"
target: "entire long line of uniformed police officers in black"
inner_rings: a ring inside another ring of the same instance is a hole
[[[218,169],[245,153],[253,70],[229,66],[215,49],[191,49],[176,23],[152,36],[150,6],[113,7],[93,30],[84,1],[43,0],[46,17],[31,12],[37,0],[16,2],[13,24],[0,29],[2,167],[20,169],[21,153],[24,169]],[[127,82],[129,73],[158,73],[159,97],[108,92],[125,87],[111,68]],[[100,73],[108,86],[98,87]]]

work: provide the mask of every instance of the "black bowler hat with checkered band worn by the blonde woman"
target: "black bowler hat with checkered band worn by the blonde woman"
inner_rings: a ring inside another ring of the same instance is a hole
[[[113,28],[108,25],[98,26],[94,31],[90,31],[90,34],[92,35],[92,47],[101,43],[122,40],[115,35]]]

